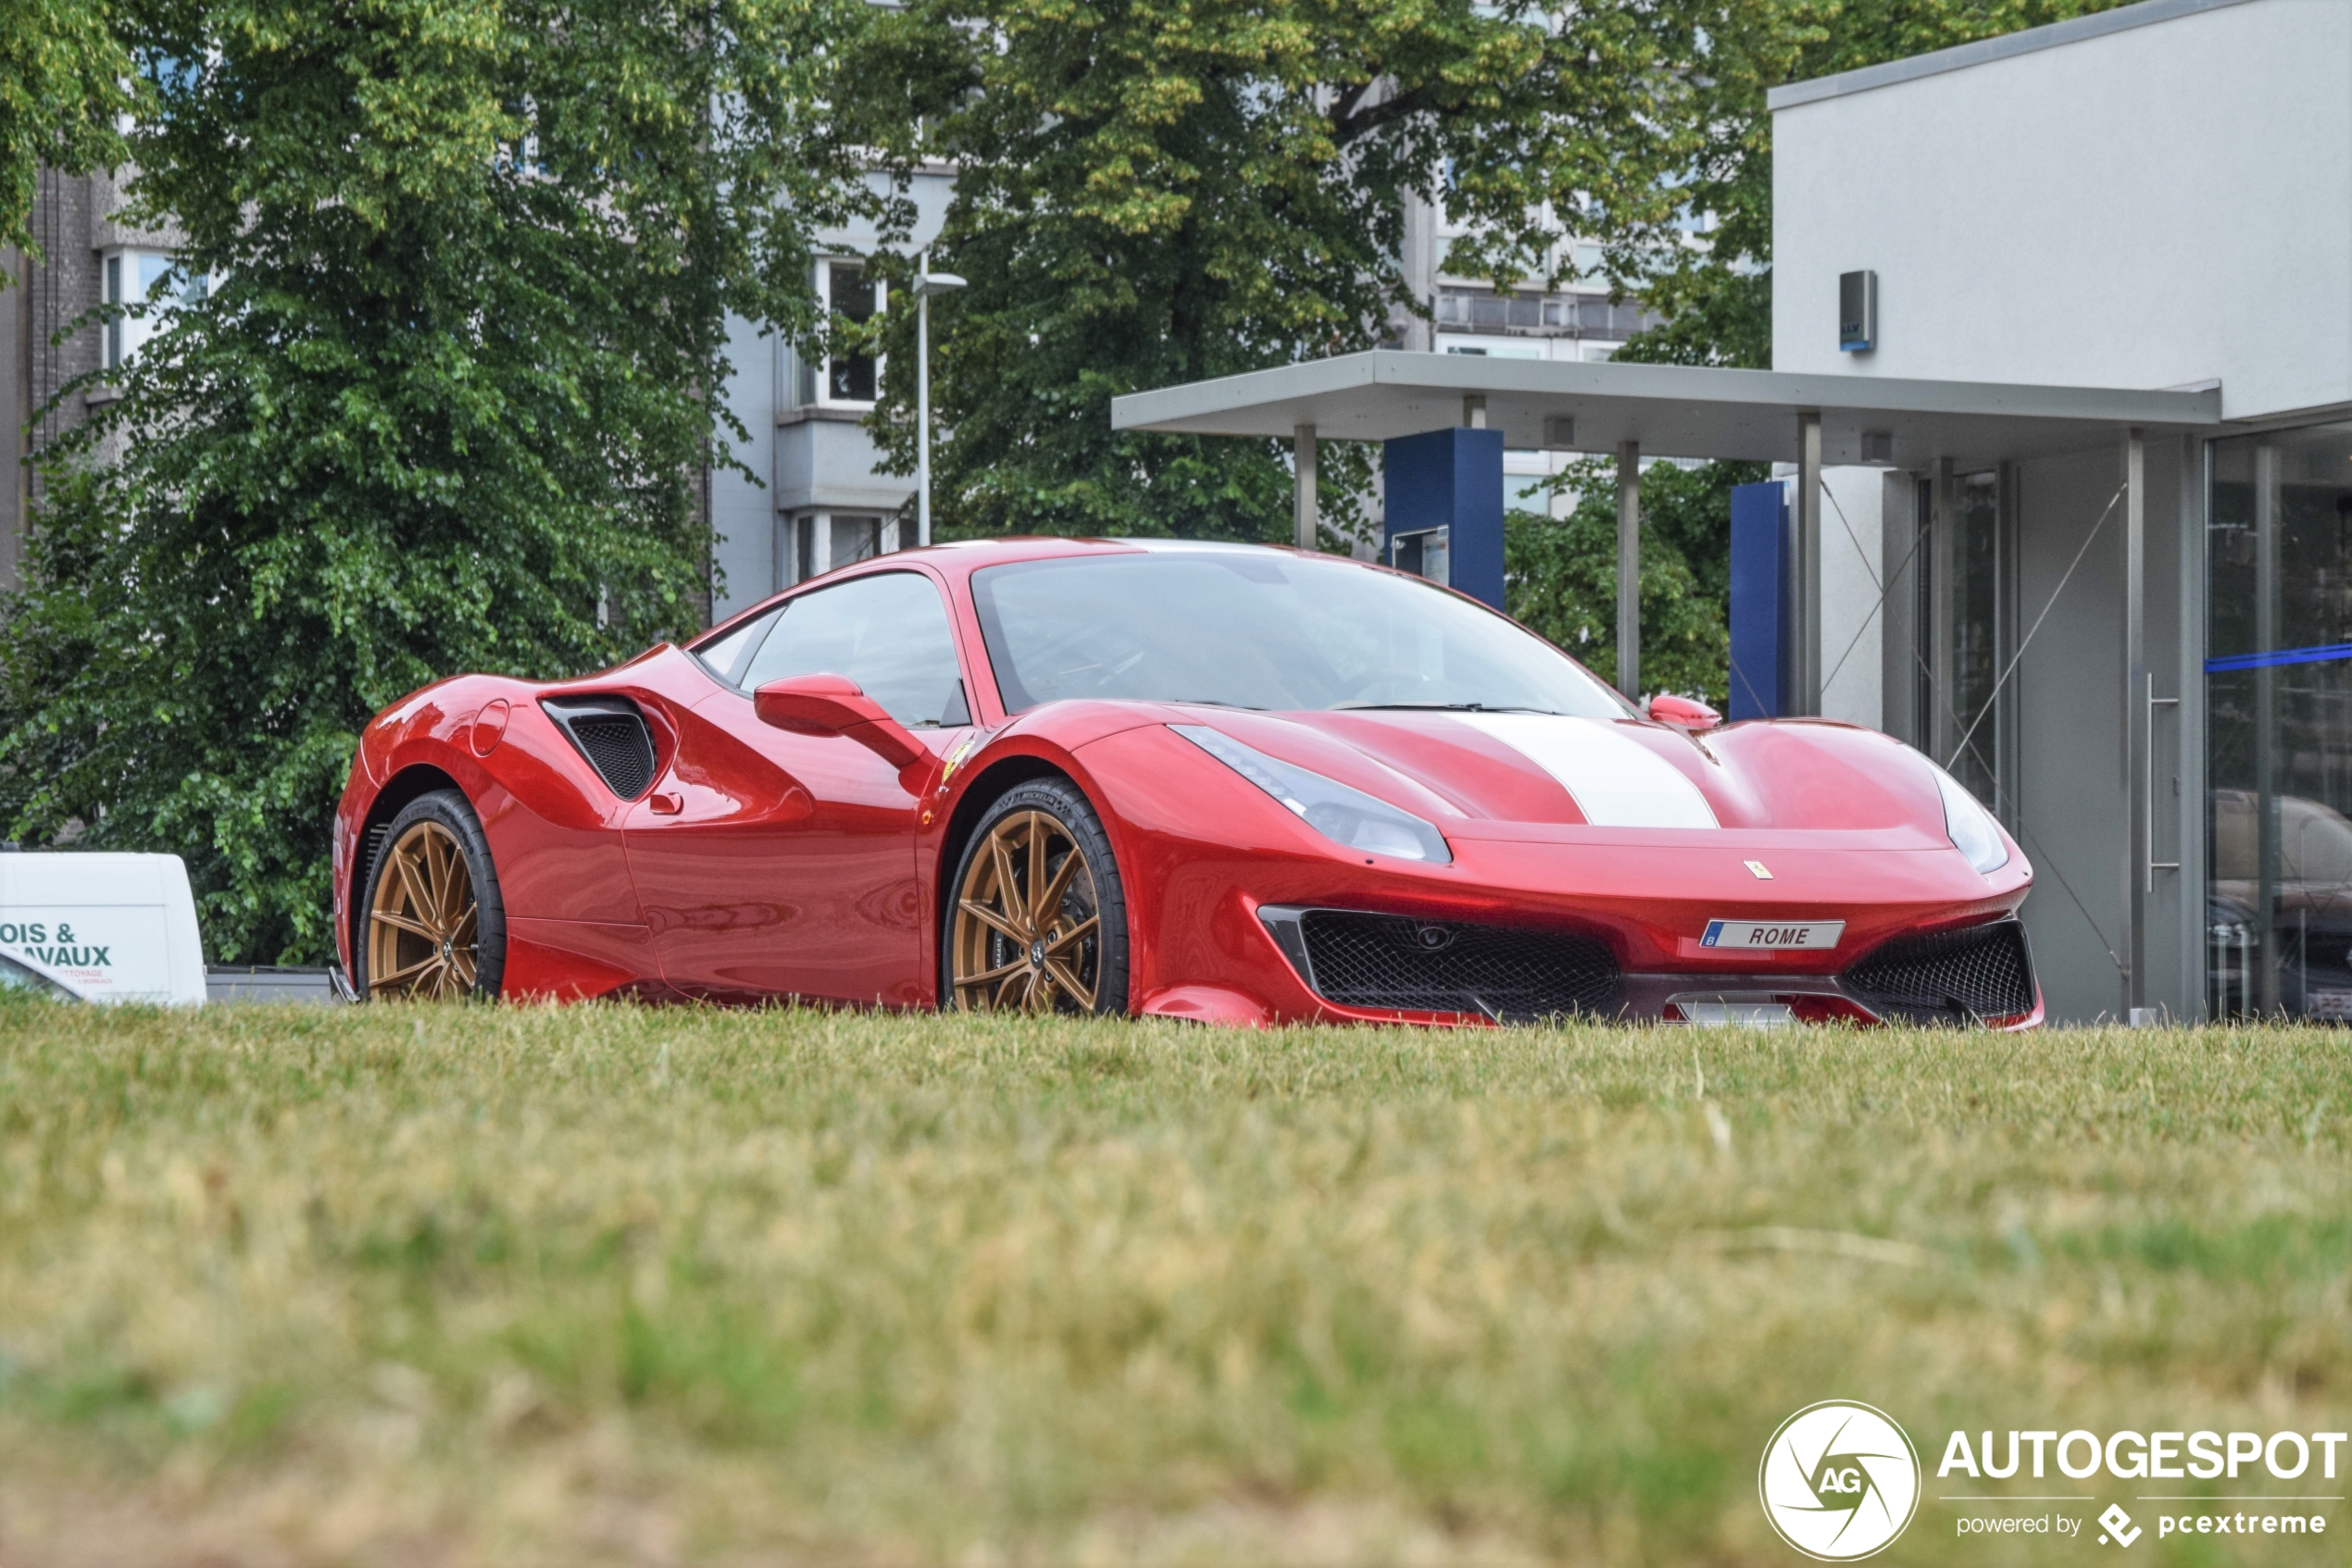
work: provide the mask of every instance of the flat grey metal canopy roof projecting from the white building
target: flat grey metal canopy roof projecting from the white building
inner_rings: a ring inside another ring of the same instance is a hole
[[[1797,461],[1797,416],[1820,414],[1820,461],[1929,468],[2084,451],[2119,428],[2209,430],[2220,390],[1797,376],[1686,364],[1573,364],[1378,348],[1336,360],[1192,381],[1110,402],[1112,430],[1381,442],[1468,423],[1463,397],[1484,397],[1484,423],[1510,447],[1642,456]],[[1573,433],[1545,421],[1573,421]],[[1865,454],[1863,435],[1872,442]],[[1548,440],[1550,435],[1550,440]]]

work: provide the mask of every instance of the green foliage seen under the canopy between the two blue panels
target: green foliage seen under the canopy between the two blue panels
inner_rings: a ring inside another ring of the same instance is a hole
[[[1764,463],[1653,463],[1642,473],[1642,689],[1724,708],[1731,668],[1731,487]],[[1616,684],[1616,463],[1559,475],[1564,520],[1510,512],[1503,531],[1512,616]]]

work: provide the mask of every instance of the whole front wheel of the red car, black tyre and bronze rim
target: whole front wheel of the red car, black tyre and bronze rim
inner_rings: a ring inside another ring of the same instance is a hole
[[[943,1011],[1127,1011],[1127,896],[1075,783],[1033,778],[1000,795],[948,886]]]

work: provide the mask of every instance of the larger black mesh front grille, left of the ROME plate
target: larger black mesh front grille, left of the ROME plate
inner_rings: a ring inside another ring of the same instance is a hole
[[[1352,910],[1303,910],[1294,919],[1308,983],[1338,1006],[1496,1020],[1616,1011],[1616,957],[1588,936]]]

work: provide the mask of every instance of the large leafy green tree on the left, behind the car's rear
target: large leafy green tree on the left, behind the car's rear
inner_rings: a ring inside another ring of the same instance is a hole
[[[809,331],[870,205],[821,118],[861,12],[146,0],[132,214],[209,294],[42,454],[12,837],[176,851],[214,957],[320,959],[369,712],[694,630],[724,313]]]

